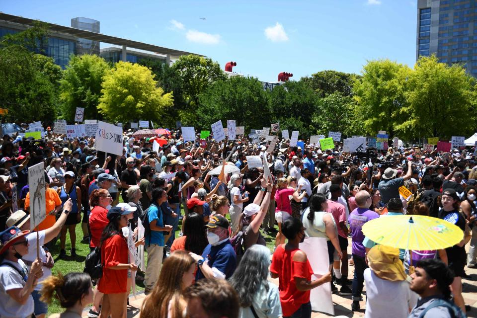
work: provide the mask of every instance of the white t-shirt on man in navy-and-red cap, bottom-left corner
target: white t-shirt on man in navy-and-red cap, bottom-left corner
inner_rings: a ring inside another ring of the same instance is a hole
[[[10,263],[18,270],[25,272],[25,275],[28,273],[25,263],[21,259],[18,260],[18,263],[11,262],[8,260],[3,260],[2,263]],[[0,266],[0,317],[18,317],[25,318],[33,314],[35,309],[35,304],[33,302],[33,297],[28,296],[28,300],[24,305],[17,303],[13,298],[10,297],[6,292],[12,289],[23,288],[25,286],[25,281],[23,277],[16,271],[11,268],[9,265]]]

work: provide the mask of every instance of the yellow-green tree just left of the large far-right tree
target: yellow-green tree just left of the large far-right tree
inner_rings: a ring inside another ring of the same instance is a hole
[[[401,123],[401,108],[405,107],[405,81],[409,68],[388,59],[368,61],[363,76],[353,85],[353,98],[357,103],[355,116],[365,133],[375,135],[386,130],[394,136]]]

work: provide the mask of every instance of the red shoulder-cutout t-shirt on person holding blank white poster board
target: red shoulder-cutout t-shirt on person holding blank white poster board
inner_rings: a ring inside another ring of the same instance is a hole
[[[292,316],[300,306],[310,301],[310,291],[301,292],[295,284],[295,277],[312,279],[313,269],[310,262],[296,262],[293,260],[297,249],[285,249],[285,244],[277,247],[273,253],[270,272],[278,274],[278,290],[282,304],[283,317]]]

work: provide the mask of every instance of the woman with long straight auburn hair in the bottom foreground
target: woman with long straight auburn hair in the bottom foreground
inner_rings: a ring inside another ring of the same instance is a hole
[[[162,264],[153,292],[143,303],[140,318],[186,317],[184,291],[192,285],[195,269],[195,261],[187,252],[171,253]]]

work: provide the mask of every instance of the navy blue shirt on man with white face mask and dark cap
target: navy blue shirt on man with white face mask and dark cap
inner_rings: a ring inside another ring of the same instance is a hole
[[[230,243],[230,239],[216,246],[208,244],[202,252],[202,257],[210,268],[215,267],[224,273],[226,279],[232,276],[237,267],[237,255],[234,247],[232,247]],[[205,276],[199,267],[199,269],[197,269],[196,280],[202,278],[205,278]]]

